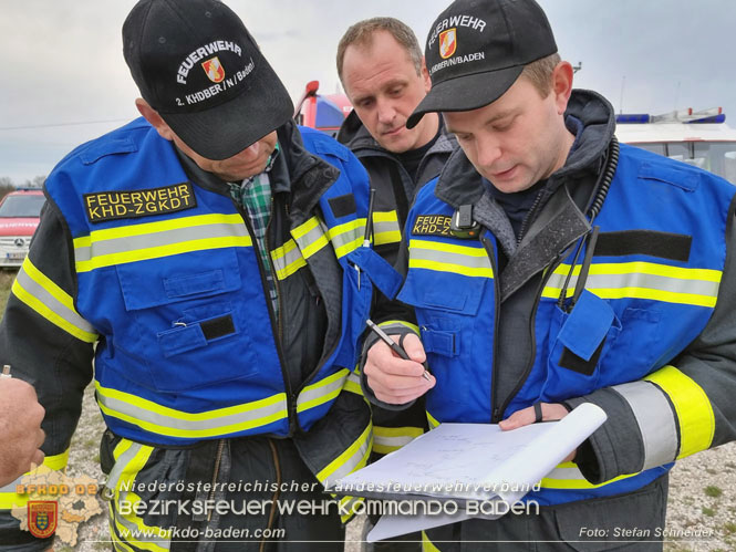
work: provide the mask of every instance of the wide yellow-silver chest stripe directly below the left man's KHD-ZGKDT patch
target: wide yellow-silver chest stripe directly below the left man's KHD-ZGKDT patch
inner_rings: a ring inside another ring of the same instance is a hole
[[[94,230],[74,240],[77,272],[179,253],[251,247],[240,215],[197,215]]]

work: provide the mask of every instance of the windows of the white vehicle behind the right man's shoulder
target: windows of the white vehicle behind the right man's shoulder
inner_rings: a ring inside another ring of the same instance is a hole
[[[736,142],[657,142],[636,146],[704,168],[736,184]]]

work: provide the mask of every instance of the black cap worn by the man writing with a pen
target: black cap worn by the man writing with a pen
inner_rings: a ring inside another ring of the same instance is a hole
[[[457,0],[433,23],[424,51],[432,90],[408,117],[471,111],[498,100],[524,66],[557,52],[533,0]]]

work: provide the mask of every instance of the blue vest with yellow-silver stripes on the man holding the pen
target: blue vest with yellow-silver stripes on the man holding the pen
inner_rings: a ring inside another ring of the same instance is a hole
[[[641,414],[637,420],[651,448],[643,469],[594,485],[574,464],[561,465],[539,492],[526,497],[540,504],[639,489],[666,472],[676,457],[712,445],[713,406],[697,383],[677,369],[676,358],[703,331],[718,301],[736,188],[622,145],[594,221],[600,235],[584,291],[570,312],[558,305],[566,282],[567,298],[573,295],[584,259],[583,248],[573,262],[576,248],[567,247],[572,241],[540,279],[530,329],[532,361],[502,400],[495,364],[504,310],[499,243],[488,230],[479,240],[454,237],[455,208],[437,197],[436,187],[437,179],[425,186],[410,211],[408,272],[398,295],[415,308],[437,378],[426,396],[431,425],[497,421],[537,402],[563,403],[604,387],[616,389]],[[559,189],[550,204],[563,205],[567,194]],[[590,230],[584,219],[576,223],[581,225],[579,236]],[[664,407],[652,415],[654,404]]]

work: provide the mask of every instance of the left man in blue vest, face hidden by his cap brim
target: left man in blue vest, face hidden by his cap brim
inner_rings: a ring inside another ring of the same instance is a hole
[[[34,385],[44,465],[62,469],[94,361],[115,550],[221,550],[204,537],[218,531],[242,550],[342,550],[352,499],[325,506],[323,483],[367,460],[351,371],[374,284],[400,283],[363,244],[366,173],[302,136],[221,2],[142,0],[123,42],[143,118],[49,176],[0,364]],[[12,489],[4,510],[28,500]],[[3,549],[49,546],[8,513]]]

